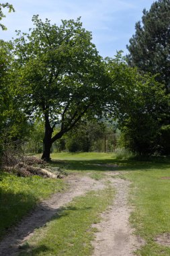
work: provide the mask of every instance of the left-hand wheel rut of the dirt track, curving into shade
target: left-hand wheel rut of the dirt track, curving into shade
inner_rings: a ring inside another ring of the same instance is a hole
[[[69,175],[67,182],[70,189],[64,193],[55,193],[36,207],[36,209],[24,218],[13,230],[8,234],[3,241],[0,242],[0,255],[14,256],[19,253],[19,245],[34,234],[36,228],[40,228],[48,222],[54,214],[57,214],[60,207],[65,206],[73,200],[74,197],[83,195],[89,190],[103,189],[103,183],[94,181],[90,177],[80,177],[77,175]]]

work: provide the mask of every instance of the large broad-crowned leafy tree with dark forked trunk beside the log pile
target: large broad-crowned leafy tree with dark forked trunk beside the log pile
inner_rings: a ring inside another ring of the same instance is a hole
[[[101,115],[112,82],[80,19],[56,26],[35,15],[33,22],[32,32],[19,32],[13,43],[13,93],[29,117],[44,120],[42,158],[49,160],[52,143],[81,117]],[[60,129],[53,134],[56,125]]]

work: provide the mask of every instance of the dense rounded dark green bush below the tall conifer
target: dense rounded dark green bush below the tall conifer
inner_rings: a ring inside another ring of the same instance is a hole
[[[168,97],[154,77],[142,80],[144,83],[138,83],[132,104],[120,119],[124,145],[139,154],[169,154],[169,142],[163,145],[161,136],[163,122],[169,114]]]

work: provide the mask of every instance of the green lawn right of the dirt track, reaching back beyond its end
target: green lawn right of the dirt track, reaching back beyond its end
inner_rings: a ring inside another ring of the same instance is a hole
[[[60,160],[59,164],[65,166],[67,172],[88,171],[94,179],[100,179],[105,170],[120,171],[120,177],[132,182],[130,204],[134,212],[130,222],[145,241],[137,255],[170,255],[170,247],[155,241],[160,234],[170,233],[169,158],[118,160],[113,154],[95,153],[54,154],[52,158]]]

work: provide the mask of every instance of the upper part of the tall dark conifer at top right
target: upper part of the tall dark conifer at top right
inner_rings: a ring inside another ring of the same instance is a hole
[[[135,34],[127,46],[128,63],[140,71],[159,73],[157,80],[170,90],[170,3],[158,0],[151,9],[143,10],[142,22],[137,22]]]

